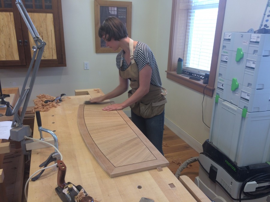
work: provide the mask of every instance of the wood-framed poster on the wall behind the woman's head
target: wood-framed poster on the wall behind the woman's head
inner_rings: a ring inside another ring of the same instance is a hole
[[[96,53],[118,53],[121,48],[113,51],[106,47],[105,41],[98,36],[98,29],[104,20],[109,16],[119,18],[128,30],[128,37],[131,38],[131,1],[103,1],[95,0],[95,45]]]

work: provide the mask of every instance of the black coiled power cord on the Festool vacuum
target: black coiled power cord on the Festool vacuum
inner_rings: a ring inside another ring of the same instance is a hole
[[[262,198],[262,197],[270,195],[270,185],[258,187],[258,188],[256,188],[256,191],[254,191],[254,192],[244,192],[244,187],[246,186],[246,183],[253,182],[253,181],[256,181],[257,184],[269,183],[270,182],[270,173],[260,173],[260,174],[256,174],[256,175],[246,179],[243,182],[241,189],[240,189],[239,202],[241,202],[241,200],[243,200],[243,201],[244,200],[253,200],[253,199]],[[251,197],[251,198],[241,199],[242,192],[244,193],[244,195]]]

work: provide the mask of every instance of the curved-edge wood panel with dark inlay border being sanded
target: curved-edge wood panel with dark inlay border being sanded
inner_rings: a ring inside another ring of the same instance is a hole
[[[85,144],[105,172],[116,177],[169,165],[125,113],[102,110],[109,104],[80,105],[78,110]]]

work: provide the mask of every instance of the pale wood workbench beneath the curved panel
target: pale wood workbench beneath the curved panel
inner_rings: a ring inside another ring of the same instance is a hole
[[[40,113],[42,127],[54,131],[58,137],[58,148],[67,168],[66,182],[81,185],[91,197],[101,202],[139,202],[142,197],[155,202],[210,201],[187,176],[182,176],[180,182],[167,167],[162,167],[162,171],[155,168],[118,177],[108,176],[85,145],[77,124],[79,105],[101,95],[104,94],[100,89],[76,90],[75,96],[63,98],[58,107]],[[51,135],[43,132],[43,136]],[[36,119],[33,137],[40,138]],[[30,176],[54,151],[52,147],[32,150]],[[38,180],[29,181],[28,201],[61,201],[56,187],[57,171],[46,169]]]

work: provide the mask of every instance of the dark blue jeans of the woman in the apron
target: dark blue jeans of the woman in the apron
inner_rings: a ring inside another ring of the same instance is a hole
[[[145,119],[131,110],[131,120],[164,156],[162,150],[164,111],[160,115]]]

